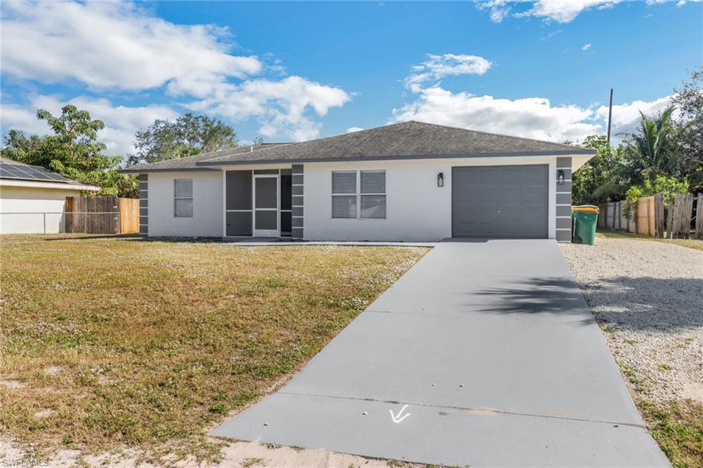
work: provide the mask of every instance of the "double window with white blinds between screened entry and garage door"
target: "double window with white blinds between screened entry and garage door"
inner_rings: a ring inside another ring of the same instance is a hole
[[[385,219],[386,171],[332,171],[332,217]]]

